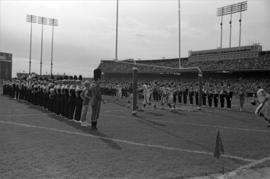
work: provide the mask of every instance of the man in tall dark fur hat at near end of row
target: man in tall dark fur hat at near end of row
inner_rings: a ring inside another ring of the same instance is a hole
[[[97,119],[99,118],[100,106],[101,106],[101,88],[100,88],[101,70],[99,68],[94,70],[94,84],[90,91],[92,94],[91,107],[91,126],[92,129],[97,129]]]

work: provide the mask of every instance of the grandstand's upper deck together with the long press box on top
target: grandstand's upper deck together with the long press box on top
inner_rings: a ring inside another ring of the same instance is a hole
[[[223,54],[220,55],[222,52]],[[215,53],[215,58],[213,57]],[[202,57],[200,60],[198,57]],[[226,58],[225,58],[226,57]],[[214,60],[215,59],[215,60]],[[156,60],[123,60],[119,63],[112,60],[102,60],[99,67],[103,71],[104,78],[123,77],[123,74],[130,76],[132,73],[132,63],[153,65],[140,67],[140,77],[150,76],[174,76],[178,77],[179,72],[158,68],[155,66],[177,68],[179,59],[156,59]],[[188,58],[182,58],[183,67],[198,66],[204,72],[204,76],[234,76],[234,77],[260,77],[270,75],[270,51],[262,51],[260,45],[224,48],[205,51],[190,52]],[[182,73],[180,76],[195,75],[194,72]]]

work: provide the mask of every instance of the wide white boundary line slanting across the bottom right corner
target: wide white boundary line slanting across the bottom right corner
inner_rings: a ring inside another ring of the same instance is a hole
[[[256,165],[259,165],[261,163],[264,163],[266,161],[269,161],[270,160],[270,157],[265,157],[265,158],[262,158],[260,160],[255,160],[249,164],[246,164],[246,165],[243,165],[239,168],[237,168],[236,170],[233,170],[231,172],[228,172],[224,175],[221,175],[219,177],[217,177],[218,179],[226,179],[226,178],[231,178],[231,177],[234,177],[236,176],[237,174],[239,174],[240,172],[244,171],[244,170],[248,170],[250,169],[251,167],[255,167]]]

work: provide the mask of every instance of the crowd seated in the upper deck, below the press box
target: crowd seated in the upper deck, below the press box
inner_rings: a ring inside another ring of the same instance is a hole
[[[167,60],[139,60],[139,61],[102,61],[100,68],[104,73],[131,73],[134,64],[137,64],[140,73],[166,73],[168,70],[161,67],[178,68],[178,59]],[[266,53],[258,58],[252,59],[233,59],[217,61],[188,61],[181,62],[183,67],[200,67],[202,71],[242,71],[242,70],[269,70],[270,54]],[[146,64],[148,66],[143,66]],[[152,66],[151,66],[152,65]],[[161,66],[161,67],[158,67]],[[170,69],[170,73],[179,72]]]

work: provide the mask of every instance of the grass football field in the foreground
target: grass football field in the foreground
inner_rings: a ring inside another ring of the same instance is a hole
[[[223,165],[226,173],[270,166],[270,129],[251,113],[180,107],[132,116],[110,101],[93,131],[0,96],[0,178],[201,178],[221,175]]]

